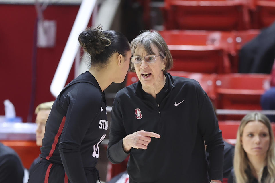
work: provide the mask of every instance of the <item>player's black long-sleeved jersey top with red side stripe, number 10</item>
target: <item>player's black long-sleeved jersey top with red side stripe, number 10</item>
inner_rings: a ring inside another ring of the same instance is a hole
[[[40,157],[63,164],[70,182],[87,182],[108,129],[105,94],[88,71],[71,81],[52,106]]]

